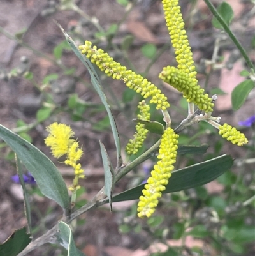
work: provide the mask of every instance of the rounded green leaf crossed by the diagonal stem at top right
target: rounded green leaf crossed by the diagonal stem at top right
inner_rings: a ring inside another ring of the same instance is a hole
[[[225,1],[222,2],[218,6],[217,11],[219,15],[221,15],[221,18],[224,20],[224,22],[226,22],[226,24],[230,26],[230,22],[234,17],[234,12],[230,4],[226,3]],[[222,29],[221,24],[215,17],[212,18],[212,26],[214,26],[216,29]]]

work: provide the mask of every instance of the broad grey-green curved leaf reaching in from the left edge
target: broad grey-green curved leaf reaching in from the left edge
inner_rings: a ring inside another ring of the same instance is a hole
[[[55,200],[64,211],[69,210],[69,195],[59,170],[54,163],[31,143],[0,124],[0,137],[17,154],[36,180],[41,193]]]

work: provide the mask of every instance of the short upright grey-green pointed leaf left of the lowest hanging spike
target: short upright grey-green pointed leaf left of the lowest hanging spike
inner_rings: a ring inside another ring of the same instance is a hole
[[[114,184],[114,171],[112,170],[112,165],[110,163],[109,156],[105,149],[105,145],[99,140],[101,155],[103,159],[103,166],[105,170],[105,195],[107,196],[110,203],[110,211],[112,211],[112,193]]]

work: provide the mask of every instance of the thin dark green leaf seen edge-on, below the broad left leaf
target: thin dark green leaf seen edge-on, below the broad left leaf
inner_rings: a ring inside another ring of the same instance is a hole
[[[17,157],[17,154],[15,154],[15,160],[16,160],[16,168],[17,168],[18,176],[20,177],[20,184],[23,189],[25,216],[27,217],[28,230],[29,230],[29,233],[31,234],[32,233],[32,219],[31,219],[31,207],[30,207],[29,193],[27,193],[27,188],[25,186],[25,181],[24,181],[23,172],[22,172],[22,165],[20,163],[20,159]]]

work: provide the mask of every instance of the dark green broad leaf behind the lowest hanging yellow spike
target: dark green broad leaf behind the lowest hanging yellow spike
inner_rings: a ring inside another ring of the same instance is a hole
[[[175,170],[169,179],[166,190],[163,193],[187,190],[195,186],[201,186],[221,176],[233,165],[231,156],[224,154],[217,158],[191,165],[184,169]],[[142,195],[144,184],[126,190],[113,196],[113,202],[138,199]]]

